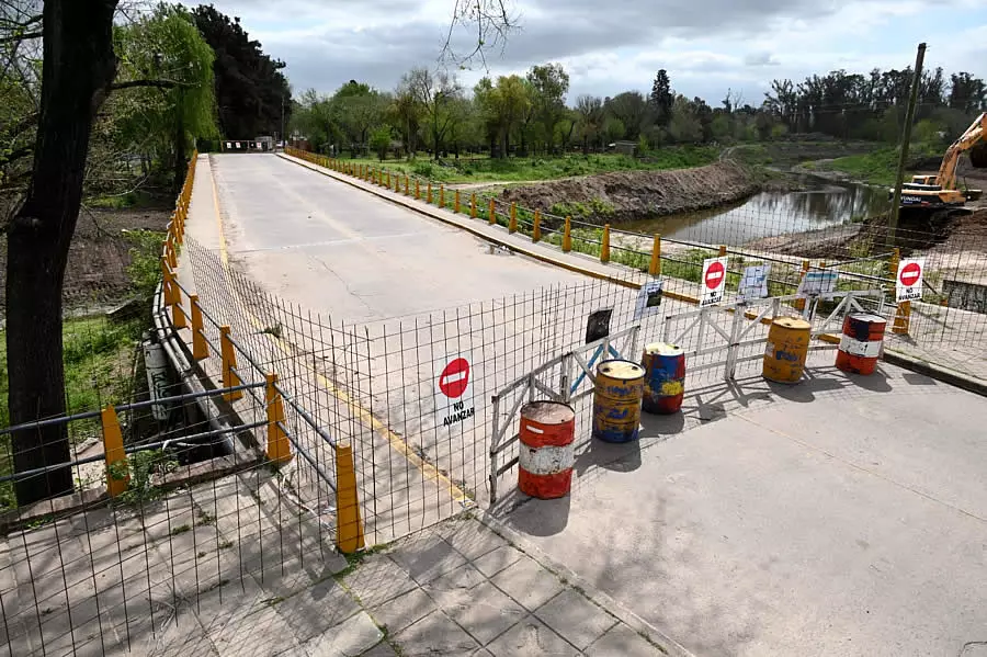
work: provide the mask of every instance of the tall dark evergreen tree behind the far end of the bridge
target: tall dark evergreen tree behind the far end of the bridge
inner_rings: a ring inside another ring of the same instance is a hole
[[[282,111],[287,125],[292,110],[292,90],[281,72],[284,63],[265,55],[240,19],[230,21],[212,4],[196,7],[192,14],[216,52],[216,103],[223,135],[250,139],[280,134]]]

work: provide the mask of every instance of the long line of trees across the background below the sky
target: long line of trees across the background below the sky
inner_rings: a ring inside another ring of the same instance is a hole
[[[717,106],[672,88],[667,70],[651,91],[568,98],[569,75],[559,64],[524,76],[485,77],[466,89],[452,72],[413,68],[392,91],[350,80],[332,94],[304,92],[292,131],[320,151],[413,157],[489,151],[494,157],[589,152],[632,141],[638,152],[671,144],[757,141],[817,133],[839,139],[896,143],[912,71],[832,71],[803,82],[774,80],[758,105],[728,89]],[[920,139],[948,139],[987,107],[987,87],[968,72],[944,78],[924,72],[917,121]]]

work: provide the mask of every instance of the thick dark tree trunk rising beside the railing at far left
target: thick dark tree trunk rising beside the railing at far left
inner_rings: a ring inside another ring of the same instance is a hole
[[[12,424],[65,414],[61,287],[76,230],[89,137],[116,71],[117,0],[45,0],[34,172],[8,235],[7,358]],[[94,409],[93,409],[94,410]],[[65,426],[16,431],[14,471],[70,460]],[[16,483],[23,506],[72,490],[64,467]]]

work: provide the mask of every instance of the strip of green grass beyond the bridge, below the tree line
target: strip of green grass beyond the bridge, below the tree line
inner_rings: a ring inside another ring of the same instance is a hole
[[[436,182],[519,182],[554,180],[572,175],[589,175],[609,171],[657,171],[701,167],[716,160],[719,149],[713,146],[662,148],[647,158],[623,155],[568,155],[563,157],[531,157],[490,159],[489,157],[446,158],[439,163],[420,156],[412,161],[378,158],[353,158],[349,161],[389,171],[413,174]]]

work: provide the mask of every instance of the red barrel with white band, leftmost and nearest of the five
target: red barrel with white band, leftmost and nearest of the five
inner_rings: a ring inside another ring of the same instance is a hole
[[[559,401],[532,401],[521,407],[521,448],[518,454],[518,488],[538,499],[569,494],[576,411]]]

